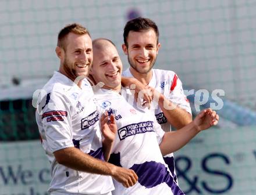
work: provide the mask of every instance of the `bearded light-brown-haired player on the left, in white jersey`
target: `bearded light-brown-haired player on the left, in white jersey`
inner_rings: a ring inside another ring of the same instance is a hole
[[[116,124],[113,115],[99,118],[93,90],[85,78],[93,62],[93,46],[86,28],[70,24],[58,35],[59,71],[38,98],[36,120],[42,147],[51,163],[51,194],[110,195],[112,178],[133,186],[133,170],[106,163]],[[99,127],[100,125],[100,127]]]

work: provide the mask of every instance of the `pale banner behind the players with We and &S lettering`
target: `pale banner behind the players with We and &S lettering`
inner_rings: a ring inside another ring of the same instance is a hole
[[[256,194],[256,128],[209,129],[175,154],[186,194]],[[39,140],[0,143],[0,195],[45,195],[50,164]]]

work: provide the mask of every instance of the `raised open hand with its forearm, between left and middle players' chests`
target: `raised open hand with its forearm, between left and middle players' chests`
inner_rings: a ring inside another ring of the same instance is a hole
[[[101,132],[104,136],[104,139],[102,140],[104,159],[105,161],[108,161],[118,128],[116,127],[115,117],[113,114],[111,114],[110,117],[108,117],[108,113],[102,114],[100,124]]]

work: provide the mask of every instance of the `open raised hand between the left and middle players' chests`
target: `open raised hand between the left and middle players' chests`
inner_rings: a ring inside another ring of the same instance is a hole
[[[116,121],[113,114],[108,117],[108,113],[105,112],[101,116],[101,132],[105,138],[105,141],[113,142],[116,137],[116,132],[118,131],[118,127],[116,127]]]

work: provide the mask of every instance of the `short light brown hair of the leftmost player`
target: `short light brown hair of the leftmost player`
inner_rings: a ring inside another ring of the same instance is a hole
[[[74,34],[79,34],[79,35],[88,34],[89,37],[91,37],[86,27],[81,26],[81,24],[77,24],[77,23],[68,24],[67,26],[62,28],[61,31],[59,31],[57,46],[65,49],[65,39],[70,32],[73,32]]]

